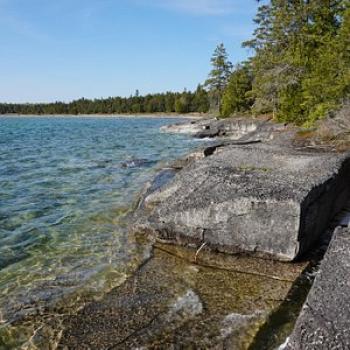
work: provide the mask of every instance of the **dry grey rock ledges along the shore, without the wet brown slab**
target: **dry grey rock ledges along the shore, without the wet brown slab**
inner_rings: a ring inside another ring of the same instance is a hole
[[[201,120],[163,131],[217,142],[175,163],[171,181],[148,188],[136,211],[135,232],[156,242],[191,247],[197,254],[209,248],[295,264],[327,247],[334,229],[348,224],[348,213],[343,213],[345,219],[339,213],[350,198],[349,153],[301,144],[296,128],[253,119]],[[347,231],[341,232],[334,235],[288,349],[349,345],[350,315],[341,309],[348,286],[330,273],[334,264],[340,266],[350,256],[348,245],[342,244],[343,257],[333,259],[339,236],[347,242]],[[339,272],[347,275],[344,268]],[[342,290],[339,297],[324,311],[322,302],[329,298],[324,290],[337,287]],[[309,303],[316,304],[321,315],[313,315]],[[342,321],[336,320],[338,309]],[[327,326],[322,328],[313,317]],[[324,337],[328,345],[322,345]]]

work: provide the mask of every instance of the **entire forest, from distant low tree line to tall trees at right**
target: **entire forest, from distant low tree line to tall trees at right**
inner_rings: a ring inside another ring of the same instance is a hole
[[[70,103],[0,104],[0,114],[207,113],[222,118],[269,114],[312,126],[350,105],[350,0],[258,1],[256,29],[235,66],[223,44],[194,92]]]

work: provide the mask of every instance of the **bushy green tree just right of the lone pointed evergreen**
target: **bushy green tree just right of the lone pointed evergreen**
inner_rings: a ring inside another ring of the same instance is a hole
[[[220,116],[229,117],[234,113],[246,112],[251,108],[249,91],[252,89],[252,74],[248,64],[238,65],[229,79],[225,89]]]

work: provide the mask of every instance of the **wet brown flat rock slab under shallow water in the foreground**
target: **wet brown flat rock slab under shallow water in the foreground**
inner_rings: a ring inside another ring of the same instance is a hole
[[[122,286],[64,317],[58,348],[245,350],[305,268],[195,253],[157,246]]]

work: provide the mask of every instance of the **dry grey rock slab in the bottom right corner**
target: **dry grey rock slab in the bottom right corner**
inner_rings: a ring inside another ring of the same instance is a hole
[[[336,231],[287,349],[350,349],[348,228]]]

